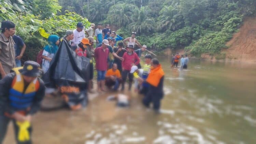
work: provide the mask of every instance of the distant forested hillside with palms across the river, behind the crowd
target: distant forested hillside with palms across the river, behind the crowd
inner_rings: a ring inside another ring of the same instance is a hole
[[[194,55],[219,53],[256,11],[255,0],[59,0],[65,10],[94,23],[111,24],[123,37],[131,31],[157,50],[184,48]],[[89,7],[88,7],[89,6]],[[142,6],[142,7],[141,7]]]

